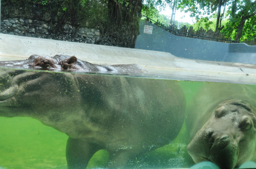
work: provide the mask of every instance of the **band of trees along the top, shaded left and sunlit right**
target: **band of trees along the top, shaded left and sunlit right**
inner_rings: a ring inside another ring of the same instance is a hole
[[[10,8],[5,14],[20,12],[25,17],[45,19],[53,25],[53,32],[66,21],[100,28],[105,38],[118,37],[110,44],[116,46],[134,46],[142,15],[167,26],[167,17],[159,14],[165,7],[190,12],[197,19],[197,26],[203,24],[205,29],[213,29],[214,22],[215,30],[236,41],[250,41],[256,34],[254,0],[2,0],[2,8],[6,6]],[[28,14],[29,10],[32,13]],[[223,22],[225,18],[227,23]]]

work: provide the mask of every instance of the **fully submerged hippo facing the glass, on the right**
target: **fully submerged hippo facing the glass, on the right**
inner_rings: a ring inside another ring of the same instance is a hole
[[[255,161],[256,87],[206,83],[187,107],[191,142],[187,152],[195,163],[210,161],[220,168]]]

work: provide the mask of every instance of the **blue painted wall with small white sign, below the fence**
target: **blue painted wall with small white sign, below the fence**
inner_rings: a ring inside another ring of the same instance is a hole
[[[179,37],[146,20],[140,22],[139,32],[135,48],[169,52],[187,59],[256,64],[256,46]]]

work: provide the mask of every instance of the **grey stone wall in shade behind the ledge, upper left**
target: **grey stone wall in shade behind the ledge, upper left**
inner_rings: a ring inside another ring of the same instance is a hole
[[[75,27],[69,23],[62,26],[52,25],[52,28],[45,21],[10,18],[1,20],[0,33],[92,44],[101,38],[99,29]]]

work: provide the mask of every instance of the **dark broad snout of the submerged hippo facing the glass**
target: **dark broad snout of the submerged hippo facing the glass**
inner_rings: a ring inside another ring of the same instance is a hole
[[[238,156],[238,142],[233,136],[219,134],[212,127],[200,131],[187,151],[196,163],[211,161],[220,168],[234,168]]]

